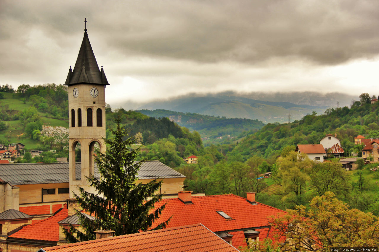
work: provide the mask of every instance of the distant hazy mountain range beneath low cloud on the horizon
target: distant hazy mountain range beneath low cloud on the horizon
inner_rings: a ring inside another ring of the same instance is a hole
[[[126,110],[165,109],[176,112],[190,112],[204,115],[224,116],[226,118],[258,119],[264,123],[287,122],[301,119],[304,115],[316,111],[322,114],[329,107],[350,106],[352,100],[359,100],[358,95],[344,93],[317,92],[222,92],[216,94],[195,94],[176,96],[169,99],[155,100],[147,103],[125,101],[111,104],[113,108]]]

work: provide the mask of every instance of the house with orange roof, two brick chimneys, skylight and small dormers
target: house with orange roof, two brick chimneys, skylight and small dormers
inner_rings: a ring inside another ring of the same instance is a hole
[[[255,202],[255,192],[247,192],[247,198],[233,194],[193,197],[191,193],[181,191],[178,198],[163,199],[155,205],[166,203],[160,219],[172,216],[168,228],[200,222],[237,248],[246,247],[248,240],[277,240],[268,217],[285,211]]]

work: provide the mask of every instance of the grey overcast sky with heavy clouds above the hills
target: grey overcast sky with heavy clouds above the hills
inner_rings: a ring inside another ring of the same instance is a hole
[[[379,95],[377,0],[0,0],[0,85],[64,84],[85,17],[111,105],[225,90]]]

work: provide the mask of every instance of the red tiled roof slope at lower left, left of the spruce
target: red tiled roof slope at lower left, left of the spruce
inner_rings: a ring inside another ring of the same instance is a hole
[[[32,222],[32,224],[23,227],[23,229],[12,235],[9,235],[9,237],[39,241],[58,241],[60,229],[58,221],[61,221],[64,218],[67,218],[66,208],[63,208],[58,213],[47,219]]]

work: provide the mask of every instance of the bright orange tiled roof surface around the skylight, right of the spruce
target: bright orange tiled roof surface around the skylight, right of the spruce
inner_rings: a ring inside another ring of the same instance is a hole
[[[193,204],[184,204],[178,198],[163,199],[157,204],[160,207],[166,204],[159,222],[165,221],[172,216],[168,227],[177,227],[188,224],[202,223],[212,232],[229,232],[233,230],[267,227],[268,216],[285,211],[257,203],[252,205],[245,198],[234,194],[196,196],[192,197]],[[223,211],[232,219],[225,219],[216,211]],[[254,218],[252,218],[254,216]]]

